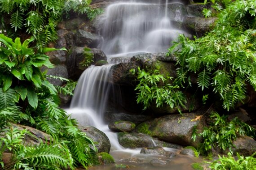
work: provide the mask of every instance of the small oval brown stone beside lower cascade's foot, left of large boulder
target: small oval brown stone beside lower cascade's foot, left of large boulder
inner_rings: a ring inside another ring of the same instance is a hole
[[[135,123],[128,121],[117,121],[108,125],[108,127],[115,132],[132,132],[135,126]]]

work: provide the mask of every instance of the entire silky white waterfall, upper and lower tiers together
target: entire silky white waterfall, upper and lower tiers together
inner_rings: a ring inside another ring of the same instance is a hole
[[[168,0],[164,4],[160,3],[160,0],[151,1],[153,3],[130,0],[107,7],[102,29],[104,42],[100,48],[106,53],[109,63],[128,61],[125,56],[137,53],[166,51],[170,42],[177,39],[179,34],[186,34],[183,30],[175,29],[170,20],[182,19],[182,4],[168,3]],[[170,6],[174,10],[171,11]],[[105,132],[110,139],[111,148],[124,150],[118,143],[115,133],[110,132],[103,123],[111,88],[111,64],[92,66],[84,71],[75,89],[71,108],[67,112],[81,125],[95,126]],[[154,140],[152,145],[155,145]]]

